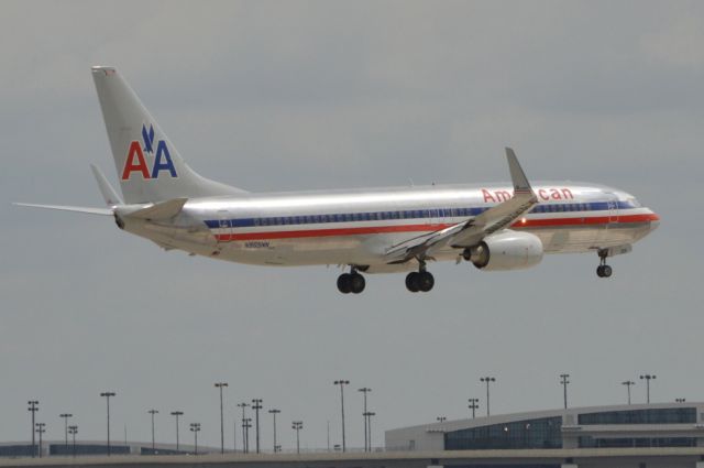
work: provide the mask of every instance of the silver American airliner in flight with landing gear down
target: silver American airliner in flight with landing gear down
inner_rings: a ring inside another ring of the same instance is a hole
[[[232,262],[340,265],[341,293],[366,274],[405,272],[428,292],[433,261],[481,271],[535,266],[544,253],[607,258],[656,229],[660,217],[632,195],[597,184],[531,185],[506,148],[512,184],[431,185],[254,194],[198,175],[114,67],[91,68],[122,197],[91,165],[107,208],[16,204],[112,216],[118,227],[165,250]]]

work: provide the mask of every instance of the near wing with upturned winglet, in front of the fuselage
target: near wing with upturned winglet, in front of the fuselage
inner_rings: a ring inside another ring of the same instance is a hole
[[[387,263],[405,263],[413,259],[432,258],[433,252],[447,246],[454,248],[476,246],[484,237],[510,226],[530,210],[538,203],[538,198],[510,148],[506,149],[506,159],[514,183],[514,196],[510,199],[449,228],[392,246],[385,254]]]

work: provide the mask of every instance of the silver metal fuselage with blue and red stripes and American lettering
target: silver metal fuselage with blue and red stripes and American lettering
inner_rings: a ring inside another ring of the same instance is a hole
[[[538,236],[546,253],[587,252],[638,241],[659,224],[631,195],[594,184],[537,183],[539,204],[510,229]],[[435,185],[359,191],[243,194],[189,199],[166,221],[121,218],[123,228],[166,249],[261,265],[351,264],[370,273],[389,265],[387,250],[470,219],[507,200],[509,184]],[[455,260],[448,247],[436,260]]]

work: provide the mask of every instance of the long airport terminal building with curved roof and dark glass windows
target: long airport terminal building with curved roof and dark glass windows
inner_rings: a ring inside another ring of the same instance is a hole
[[[505,414],[386,432],[388,450],[704,447],[704,403]]]

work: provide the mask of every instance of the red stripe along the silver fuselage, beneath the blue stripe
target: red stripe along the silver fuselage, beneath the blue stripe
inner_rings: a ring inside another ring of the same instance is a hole
[[[618,219],[616,219],[618,218]],[[596,226],[596,225],[627,225],[634,222],[659,221],[656,214],[626,215],[618,217],[575,217],[575,218],[548,218],[548,219],[526,219],[518,220],[512,225],[513,228],[543,228],[559,226]],[[365,226],[359,228],[332,228],[332,229],[301,229],[290,231],[266,231],[266,232],[242,232],[216,235],[220,241],[238,240],[264,240],[264,239],[297,239],[309,237],[334,237],[334,236],[363,236],[388,232],[432,232],[449,228],[454,224],[437,225],[398,225],[398,226]],[[237,228],[235,228],[237,230]]]

